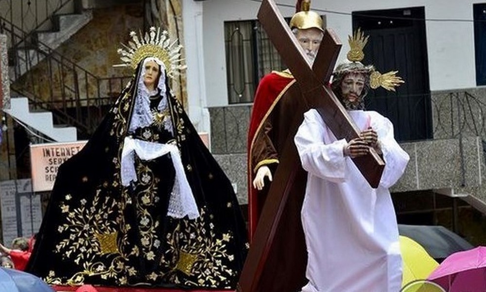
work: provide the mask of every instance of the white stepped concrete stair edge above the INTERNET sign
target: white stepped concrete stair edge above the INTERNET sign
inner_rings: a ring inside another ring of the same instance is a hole
[[[15,97],[10,100],[10,109],[4,112],[58,142],[77,140],[75,127],[62,127],[53,124],[52,112],[31,112],[26,97]]]

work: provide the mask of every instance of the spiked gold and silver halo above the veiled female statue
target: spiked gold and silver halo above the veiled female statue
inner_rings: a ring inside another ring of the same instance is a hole
[[[167,76],[174,77],[180,74],[181,70],[186,69],[181,59],[181,45],[177,45],[177,39],[172,41],[167,31],[160,31],[160,28],[151,27],[149,32],[139,35],[134,31],[130,32],[131,41],[128,45],[121,44],[118,53],[125,66],[134,69],[143,59],[147,57],[156,57],[160,59],[167,71]]]

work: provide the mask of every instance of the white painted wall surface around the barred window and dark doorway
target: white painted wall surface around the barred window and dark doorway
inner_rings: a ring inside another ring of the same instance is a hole
[[[292,7],[295,6],[294,0],[276,2],[281,4],[279,8],[284,17],[291,17],[295,13],[295,8]],[[342,40],[343,49],[338,60],[343,60],[348,51],[347,35],[353,29],[351,13],[424,7],[428,76],[430,90],[436,91],[476,86],[473,22],[473,4],[475,2],[472,0],[314,0],[311,9],[326,15],[327,26],[334,30]],[[204,83],[204,87],[199,86],[198,88],[205,91],[207,106],[228,105],[225,22],[256,19],[260,2],[254,0],[185,0],[184,4],[189,68],[199,68],[200,66],[204,68],[204,71],[198,71],[201,81],[197,82]],[[197,7],[197,9],[192,7]],[[197,23],[195,26],[190,25],[189,23],[194,19]],[[192,27],[195,27],[200,35],[189,37],[189,34],[194,34]],[[191,42],[198,44],[194,48],[195,52],[190,51]],[[202,55],[201,44],[203,46]],[[191,63],[190,55],[197,55],[198,60]],[[202,62],[201,56],[204,58]],[[189,77],[191,83],[193,79],[191,76]],[[201,91],[199,92],[201,94]]]

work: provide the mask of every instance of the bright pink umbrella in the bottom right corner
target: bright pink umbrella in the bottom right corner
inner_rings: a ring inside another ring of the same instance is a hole
[[[485,292],[486,247],[479,246],[450,255],[432,272],[428,280],[448,292]]]

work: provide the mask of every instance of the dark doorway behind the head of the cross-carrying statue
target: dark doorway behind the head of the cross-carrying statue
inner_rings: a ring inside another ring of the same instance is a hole
[[[424,7],[360,11],[352,17],[353,30],[361,28],[369,35],[363,63],[381,73],[398,70],[405,80],[396,92],[371,90],[366,108],[390,119],[399,141],[432,138]]]

